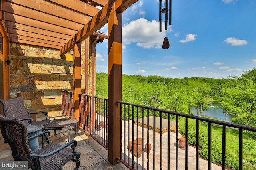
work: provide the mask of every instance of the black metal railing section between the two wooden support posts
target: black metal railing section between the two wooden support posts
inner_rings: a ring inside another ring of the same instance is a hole
[[[78,94],[79,126],[108,149],[108,99]]]

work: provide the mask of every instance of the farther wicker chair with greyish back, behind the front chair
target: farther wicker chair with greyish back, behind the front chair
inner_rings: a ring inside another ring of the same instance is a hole
[[[27,111],[24,106],[24,99],[22,97],[8,100],[0,100],[0,102],[3,104],[4,116],[8,117],[9,119],[20,119],[23,123],[25,123],[25,125],[30,125],[33,121],[33,119],[30,118],[30,114],[44,113],[46,119],[38,122],[33,122],[32,124],[44,126],[50,122],[50,119],[47,117],[47,111],[35,113]]]

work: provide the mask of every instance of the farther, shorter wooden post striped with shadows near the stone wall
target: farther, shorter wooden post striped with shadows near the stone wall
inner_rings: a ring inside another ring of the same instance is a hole
[[[75,43],[73,55],[73,117],[79,121],[79,98],[78,93],[81,93],[81,43]]]

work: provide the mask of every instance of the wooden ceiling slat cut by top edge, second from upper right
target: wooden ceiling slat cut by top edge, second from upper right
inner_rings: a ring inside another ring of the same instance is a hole
[[[82,14],[93,17],[100,10],[94,6],[86,4],[80,0],[46,0],[48,2],[52,2],[54,4],[58,4],[60,6],[64,6],[70,10],[74,10],[76,12],[80,12]]]

